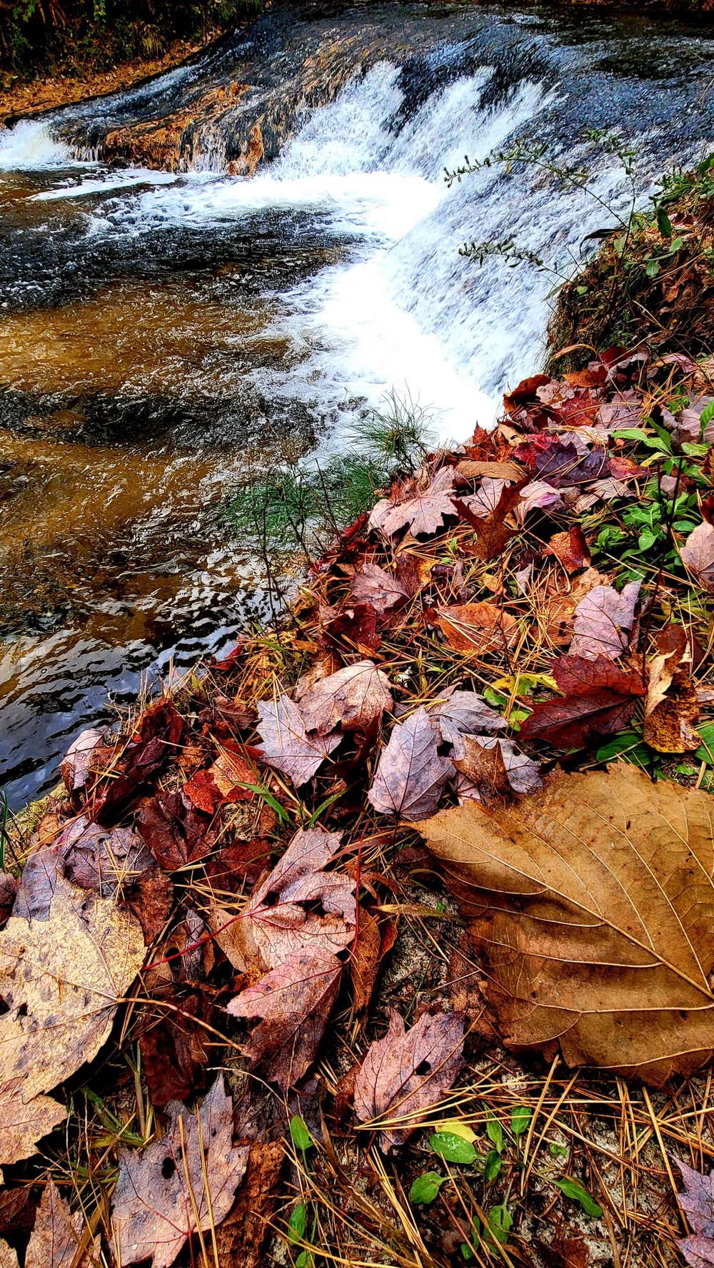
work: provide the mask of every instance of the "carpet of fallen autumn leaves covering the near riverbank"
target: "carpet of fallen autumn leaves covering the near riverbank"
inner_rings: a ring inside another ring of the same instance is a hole
[[[3,1268],[711,1262],[709,370],[521,383],[72,744],[0,876]]]

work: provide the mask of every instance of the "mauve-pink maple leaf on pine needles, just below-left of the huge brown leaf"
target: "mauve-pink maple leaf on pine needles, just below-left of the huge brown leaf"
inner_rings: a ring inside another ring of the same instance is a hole
[[[457,1013],[422,1013],[411,1030],[389,1012],[389,1030],[377,1040],[355,1078],[355,1113],[360,1122],[389,1116],[408,1126],[386,1126],[380,1145],[398,1148],[416,1131],[425,1112],[438,1104],[463,1068],[463,1017]]]

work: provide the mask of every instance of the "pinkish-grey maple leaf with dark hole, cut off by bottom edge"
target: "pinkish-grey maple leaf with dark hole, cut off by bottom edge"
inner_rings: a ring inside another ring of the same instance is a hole
[[[193,1232],[227,1216],[249,1154],[246,1145],[231,1148],[232,1111],[219,1074],[195,1113],[179,1101],[167,1106],[161,1140],[119,1150],[112,1230],[120,1263],[169,1268]]]

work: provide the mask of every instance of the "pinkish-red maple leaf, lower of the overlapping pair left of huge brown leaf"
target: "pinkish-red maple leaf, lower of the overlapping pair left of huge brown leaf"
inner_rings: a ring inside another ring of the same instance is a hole
[[[243,1044],[251,1066],[285,1092],[315,1060],[337,998],[342,965],[327,947],[290,956],[227,1006],[232,1017],[263,1021]]]

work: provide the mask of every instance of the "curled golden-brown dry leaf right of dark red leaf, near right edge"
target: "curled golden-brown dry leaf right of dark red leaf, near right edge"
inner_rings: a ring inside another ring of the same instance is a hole
[[[691,681],[691,647],[684,625],[666,625],[657,634],[657,656],[649,662],[643,739],[659,753],[687,753],[701,744],[695,729],[699,699]]]

